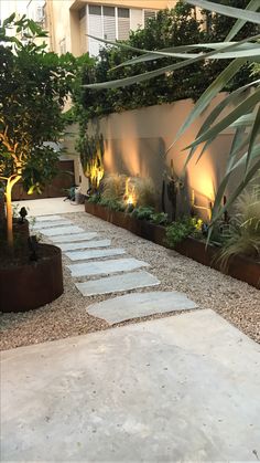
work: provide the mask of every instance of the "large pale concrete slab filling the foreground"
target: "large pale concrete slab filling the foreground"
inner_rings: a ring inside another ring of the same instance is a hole
[[[2,354],[2,461],[257,461],[260,346],[212,311]]]

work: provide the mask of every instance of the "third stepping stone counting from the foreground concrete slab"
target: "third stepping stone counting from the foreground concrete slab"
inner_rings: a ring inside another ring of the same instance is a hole
[[[72,272],[72,276],[108,275],[109,273],[129,272],[143,266],[150,265],[137,259],[112,259],[105,262],[86,262],[67,265]]]

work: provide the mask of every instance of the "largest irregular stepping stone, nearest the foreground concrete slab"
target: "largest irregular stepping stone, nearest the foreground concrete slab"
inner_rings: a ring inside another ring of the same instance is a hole
[[[119,323],[130,318],[144,317],[173,311],[197,308],[185,294],[173,292],[133,293],[101,303],[91,304],[87,312],[108,323]]]

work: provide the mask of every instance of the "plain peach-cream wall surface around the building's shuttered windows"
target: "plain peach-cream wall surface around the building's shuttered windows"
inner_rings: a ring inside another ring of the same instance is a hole
[[[172,8],[174,3],[175,0],[46,0],[46,25],[52,50],[61,53],[61,43],[65,40],[66,51],[75,56],[83,53],[80,33],[84,34],[84,30],[78,12],[86,4],[160,10]]]

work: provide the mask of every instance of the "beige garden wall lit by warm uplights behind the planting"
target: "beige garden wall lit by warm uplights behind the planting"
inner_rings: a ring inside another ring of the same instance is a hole
[[[218,96],[214,105],[221,98],[225,98],[225,94]],[[192,99],[185,99],[111,114],[93,122],[89,125],[89,135],[101,133],[105,138],[106,172],[151,177],[158,189],[160,204],[162,181],[166,178],[165,172],[170,175],[171,161],[176,175],[181,176],[187,152],[182,150],[194,140],[203,120],[213,108],[210,106],[205,111],[203,117],[197,118],[165,156],[166,149],[174,140],[193,105]],[[223,133],[208,147],[198,164],[193,160],[188,165],[185,177],[186,188],[183,189],[178,199],[180,207],[189,202],[192,189],[195,193],[195,202],[198,206],[209,207],[225,171],[231,135],[230,130]],[[235,178],[234,185],[236,181]],[[208,214],[205,210],[202,212],[204,218]]]

